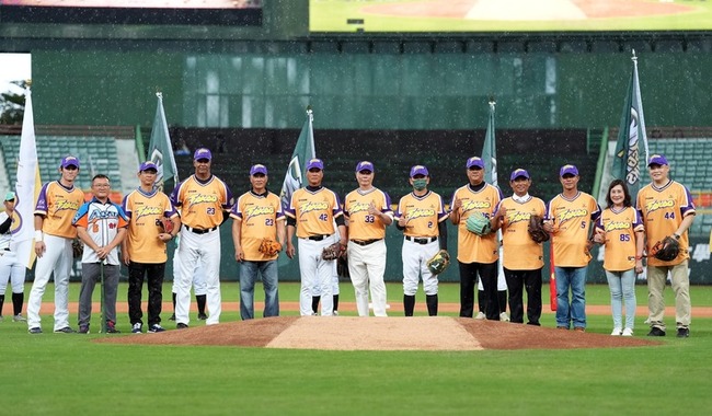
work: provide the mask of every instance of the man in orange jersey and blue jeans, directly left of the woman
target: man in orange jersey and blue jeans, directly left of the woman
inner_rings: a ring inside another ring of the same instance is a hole
[[[596,199],[578,190],[578,169],[559,170],[563,192],[547,208],[544,229],[552,232],[556,278],[556,327],[586,331],[586,270],[590,262],[592,221],[600,216]],[[571,300],[570,300],[571,291]]]

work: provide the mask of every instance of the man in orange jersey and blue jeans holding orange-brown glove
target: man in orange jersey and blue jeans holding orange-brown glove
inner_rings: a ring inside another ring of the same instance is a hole
[[[257,274],[264,286],[264,317],[279,316],[277,256],[260,252],[263,239],[285,244],[285,215],[279,196],[267,190],[267,166],[250,169],[252,189],[242,194],[232,207],[234,259],[240,263],[240,317],[254,319],[254,284]]]

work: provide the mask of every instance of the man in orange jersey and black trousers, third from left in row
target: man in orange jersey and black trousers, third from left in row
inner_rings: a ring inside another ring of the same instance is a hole
[[[163,277],[168,261],[166,244],[181,230],[181,220],[168,196],[156,187],[158,166],[148,161],[138,169],[138,189],[124,197],[122,208],[128,218],[128,234],[122,243],[122,257],[128,266],[128,319],[131,333],[143,328],[141,289],[143,278],[148,286],[148,332],[165,331],[161,326]],[[159,229],[157,221],[170,218],[173,231]]]

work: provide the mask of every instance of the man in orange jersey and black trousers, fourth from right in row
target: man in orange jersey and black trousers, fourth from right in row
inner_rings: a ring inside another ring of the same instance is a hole
[[[504,276],[509,290],[512,322],[524,323],[522,289],[527,290],[527,323],[539,326],[541,317],[541,269],[543,243],[529,236],[529,218],[544,216],[544,201],[529,195],[529,172],[517,169],[509,176],[514,195],[504,198],[492,219],[493,229],[502,228]]]

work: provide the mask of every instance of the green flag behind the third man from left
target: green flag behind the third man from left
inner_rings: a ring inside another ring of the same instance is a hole
[[[151,141],[148,145],[148,157],[146,159],[156,163],[158,167],[156,186],[170,193],[179,182],[177,167],[175,157],[173,157],[171,137],[168,132],[168,123],[165,123],[165,112],[163,112],[163,94],[157,92],[156,96],[158,96],[158,106],[156,107]]]

